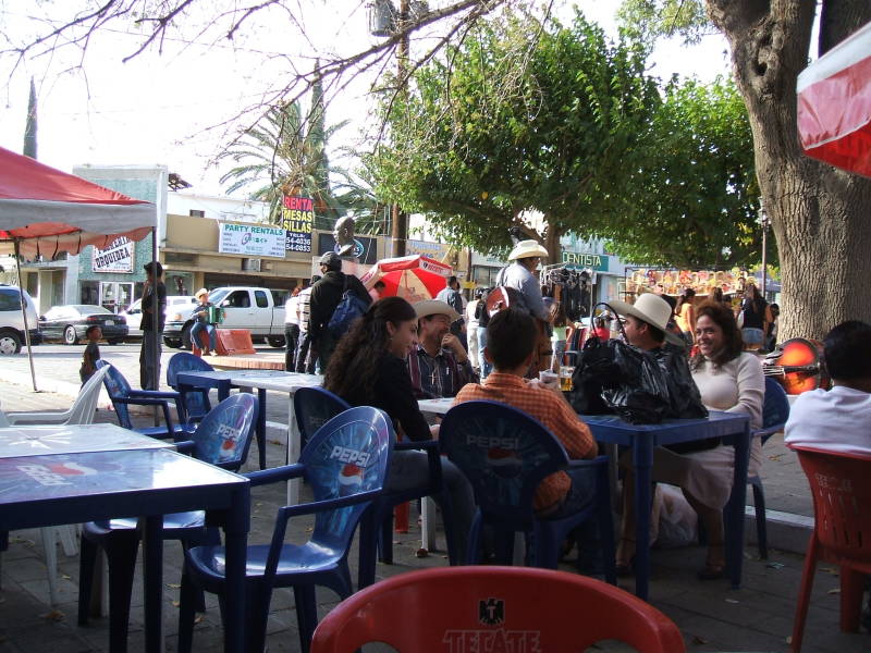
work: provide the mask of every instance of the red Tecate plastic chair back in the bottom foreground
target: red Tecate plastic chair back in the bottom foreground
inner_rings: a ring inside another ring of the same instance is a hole
[[[685,651],[671,619],[599,580],[529,567],[440,567],[394,576],[340,603],[315,631],[311,653],[369,642],[402,653],[571,653],[612,639],[640,653]]]

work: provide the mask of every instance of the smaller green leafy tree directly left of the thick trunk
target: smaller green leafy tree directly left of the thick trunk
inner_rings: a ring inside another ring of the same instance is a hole
[[[753,139],[735,85],[672,79],[645,147],[621,189],[626,210],[601,232],[610,249],[626,260],[678,268],[758,263]]]

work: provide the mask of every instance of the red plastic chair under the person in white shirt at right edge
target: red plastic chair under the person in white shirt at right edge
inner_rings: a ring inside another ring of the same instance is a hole
[[[789,448],[808,477],[815,521],[793,623],[792,651],[798,653],[819,559],[841,567],[841,630],[859,629],[864,576],[871,575],[871,456],[793,444]]]

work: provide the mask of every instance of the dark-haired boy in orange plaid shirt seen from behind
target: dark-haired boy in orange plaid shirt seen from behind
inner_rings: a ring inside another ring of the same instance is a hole
[[[569,458],[592,458],[598,453],[592,433],[560,392],[559,385],[544,385],[538,379],[524,378],[532,361],[537,337],[536,323],[525,310],[507,308],[490,318],[483,355],[492,364],[493,371],[481,383],[465,385],[456,395],[454,405],[481,399],[507,404],[547,427],[563,444]],[[594,470],[557,471],[541,481],[532,507],[543,519],[559,519],[577,513],[594,495]],[[592,525],[590,528],[593,529],[590,532],[573,535],[580,540],[581,568],[586,567],[584,556],[590,556],[588,562],[594,566],[592,560],[598,553],[592,546],[597,540],[596,527]]]

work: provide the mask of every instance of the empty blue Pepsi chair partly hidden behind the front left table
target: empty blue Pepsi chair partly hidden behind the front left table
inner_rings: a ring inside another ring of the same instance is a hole
[[[199,422],[192,440],[177,443],[179,451],[223,469],[237,471],[248,457],[257,420],[258,402],[254,395],[240,393],[218,404]],[[109,642],[113,652],[125,651],[127,623],[139,550],[135,518],[90,521],[82,531],[82,556],[78,575],[78,625],[86,626],[91,580],[97,550],[102,546],[109,563]],[[195,544],[220,543],[218,532],[207,528],[205,513],[176,513],[163,517],[163,539],[181,540],[187,550]],[[198,596],[200,609],[201,594]]]

